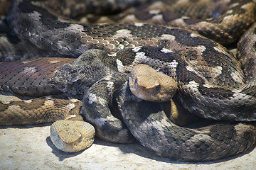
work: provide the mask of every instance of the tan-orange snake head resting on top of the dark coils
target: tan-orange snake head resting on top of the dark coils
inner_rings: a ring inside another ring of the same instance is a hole
[[[177,91],[174,79],[145,64],[133,67],[129,77],[132,94],[146,101],[169,101]]]

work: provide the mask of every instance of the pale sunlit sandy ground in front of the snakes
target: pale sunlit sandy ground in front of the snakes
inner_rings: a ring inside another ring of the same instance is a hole
[[[96,139],[83,152],[66,154],[50,141],[50,124],[0,126],[0,169],[255,169],[256,149],[218,162],[186,163],[158,157],[139,144]]]

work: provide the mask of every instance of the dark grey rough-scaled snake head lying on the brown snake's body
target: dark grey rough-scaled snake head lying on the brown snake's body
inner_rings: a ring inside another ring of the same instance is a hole
[[[57,89],[63,93],[82,95],[102,77],[117,72],[117,69],[99,56],[99,50],[88,50],[74,62],[64,64],[50,79]]]

